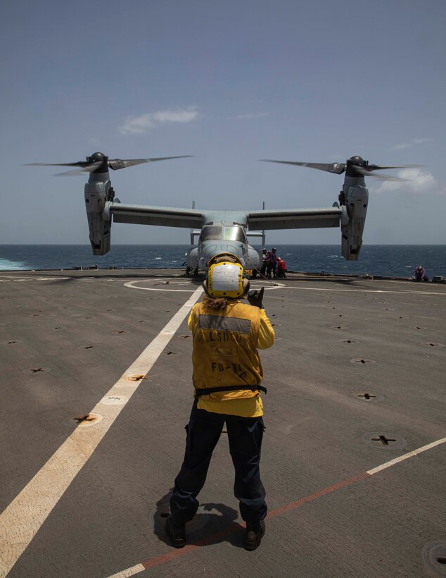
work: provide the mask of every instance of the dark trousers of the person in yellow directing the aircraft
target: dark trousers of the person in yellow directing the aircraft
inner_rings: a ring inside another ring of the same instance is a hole
[[[265,425],[262,417],[238,417],[197,409],[193,403],[186,426],[186,452],[175,479],[170,512],[177,522],[189,522],[196,515],[196,497],[208,474],[212,452],[226,422],[229,451],[236,471],[234,496],[245,522],[258,522],[267,515],[265,488],[260,480],[260,450]]]

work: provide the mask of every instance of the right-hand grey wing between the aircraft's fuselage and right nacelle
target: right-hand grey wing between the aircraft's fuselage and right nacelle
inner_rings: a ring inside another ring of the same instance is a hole
[[[306,229],[338,227],[341,213],[341,209],[335,206],[327,209],[249,211],[247,216],[250,230]]]

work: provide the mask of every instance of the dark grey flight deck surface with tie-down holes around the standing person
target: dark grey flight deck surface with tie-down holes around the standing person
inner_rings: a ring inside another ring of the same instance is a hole
[[[446,575],[446,443],[365,473],[446,437],[446,285],[434,283],[253,281],[267,288],[277,338],[261,353],[269,517],[255,552],[243,549],[224,434],[189,524],[192,546],[175,550],[163,531],[193,399],[187,317],[146,378],[122,387],[132,396],[42,522],[40,493],[14,510],[76,431],[73,418],[93,410],[199,287],[179,275],[0,273],[0,511],[9,506],[0,520],[17,515],[0,531],[0,576],[8,557],[11,578]],[[82,443],[105,421],[82,426]],[[44,480],[60,482],[51,469]],[[11,544],[32,524],[21,553]]]

